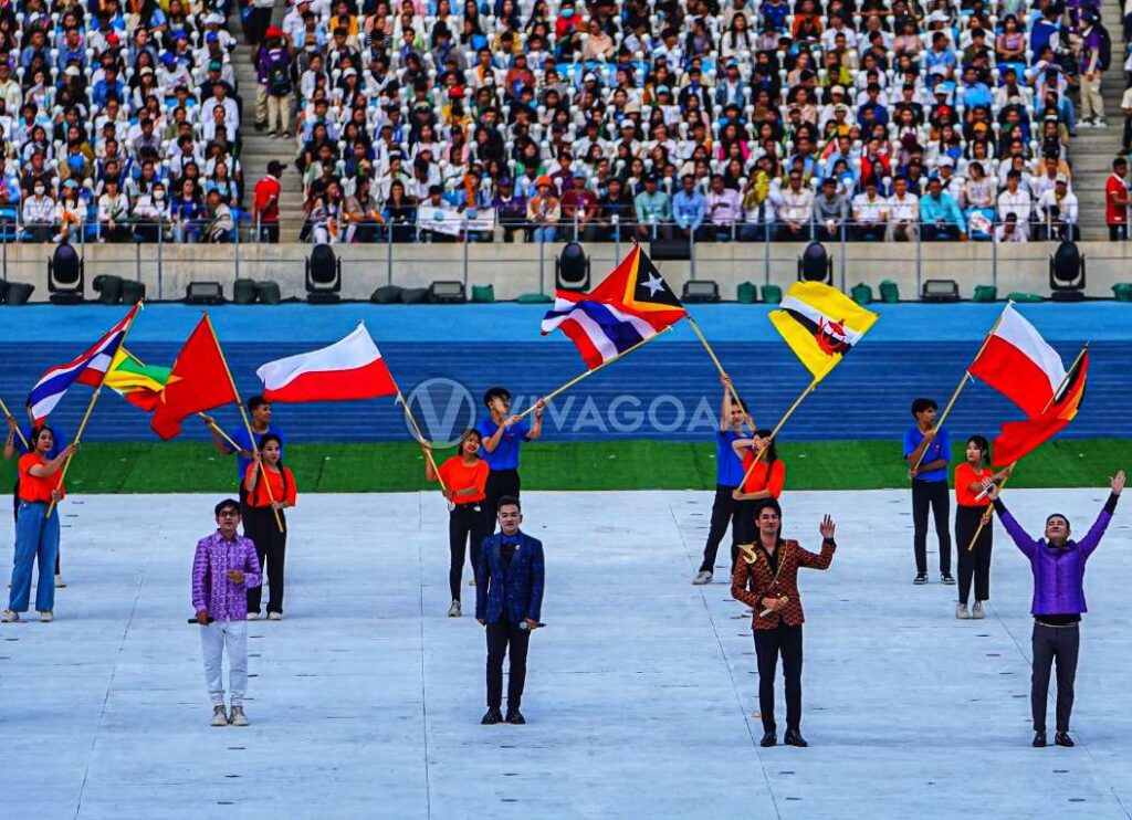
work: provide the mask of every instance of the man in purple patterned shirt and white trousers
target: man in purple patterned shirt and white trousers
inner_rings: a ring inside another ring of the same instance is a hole
[[[192,608],[200,624],[205,683],[213,701],[213,726],[247,726],[243,693],[248,688],[248,589],[258,587],[259,559],[250,538],[237,533],[240,502],[216,504],[216,532],[197,543],[192,559]],[[223,655],[228,646],[228,683],[232,714],[224,714]]]

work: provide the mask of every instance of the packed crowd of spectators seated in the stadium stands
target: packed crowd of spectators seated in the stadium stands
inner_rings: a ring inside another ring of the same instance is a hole
[[[245,190],[254,105],[315,242],[1072,238],[1072,137],[1123,58],[1092,3],[298,0],[275,26],[273,0],[0,0],[0,216],[277,240],[284,166]]]

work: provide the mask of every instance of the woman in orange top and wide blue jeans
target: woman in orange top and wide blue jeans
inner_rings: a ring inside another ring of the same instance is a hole
[[[27,612],[32,596],[32,564],[38,559],[40,580],[35,586],[35,610],[40,620],[54,619],[55,555],[59,554],[59,512],[48,516],[51,502],[63,497],[59,480],[67,459],[75,455],[75,444],[68,446],[52,459],[48,458],[55,442],[51,428],[37,426],[32,431],[32,451],[19,458],[19,510],[16,513],[16,561],[11,570],[11,595],[0,622],[14,623],[20,612]]]

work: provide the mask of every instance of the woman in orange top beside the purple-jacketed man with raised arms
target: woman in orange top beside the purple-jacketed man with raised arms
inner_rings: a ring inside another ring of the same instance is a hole
[[[955,467],[955,547],[959,550],[959,603],[955,618],[983,618],[983,602],[990,597],[990,530],[983,527],[974,550],[967,547],[979,527],[979,519],[990,506],[989,498],[979,498],[993,483],[1010,475],[1010,467],[992,473],[987,467],[990,444],[981,435],[967,440],[967,460]],[[975,611],[967,612],[967,596],[975,577]]]

